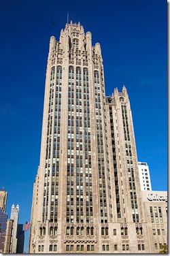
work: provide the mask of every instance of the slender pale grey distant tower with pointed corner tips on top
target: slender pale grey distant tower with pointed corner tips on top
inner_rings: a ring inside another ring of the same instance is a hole
[[[13,204],[11,209],[11,217],[10,217],[10,219],[14,220],[13,229],[12,229],[12,249],[11,249],[12,253],[16,253],[18,217],[19,217],[19,206],[17,204],[17,206],[15,207]]]

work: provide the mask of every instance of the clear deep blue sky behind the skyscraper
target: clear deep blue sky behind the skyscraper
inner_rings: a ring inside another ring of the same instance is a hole
[[[167,1],[0,1],[0,189],[19,223],[31,217],[39,165],[50,36],[80,22],[99,42],[106,95],[126,86],[138,161],[150,167],[153,190],[167,190]],[[25,233],[27,251],[29,231]]]

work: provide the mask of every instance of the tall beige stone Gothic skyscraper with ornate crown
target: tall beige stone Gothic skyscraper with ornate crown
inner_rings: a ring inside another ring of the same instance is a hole
[[[29,253],[155,253],[147,207],[126,88],[105,97],[100,44],[71,22],[50,38]]]

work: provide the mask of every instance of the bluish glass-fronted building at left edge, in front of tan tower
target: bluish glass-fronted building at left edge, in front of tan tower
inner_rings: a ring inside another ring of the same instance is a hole
[[[5,242],[5,231],[7,226],[7,212],[0,208],[0,253],[3,252]]]

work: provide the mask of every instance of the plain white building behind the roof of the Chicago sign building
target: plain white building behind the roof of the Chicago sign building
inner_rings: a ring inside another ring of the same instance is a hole
[[[152,190],[148,163],[138,162],[141,190]]]

